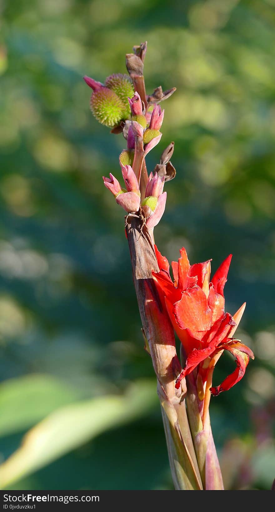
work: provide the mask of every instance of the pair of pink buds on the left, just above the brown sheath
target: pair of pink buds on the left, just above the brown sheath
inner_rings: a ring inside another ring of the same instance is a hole
[[[126,189],[121,188],[118,180],[110,173],[110,178],[103,176],[104,185],[108,188],[116,202],[128,213],[133,213],[140,206],[138,180],[131,165],[121,165],[122,177]]]

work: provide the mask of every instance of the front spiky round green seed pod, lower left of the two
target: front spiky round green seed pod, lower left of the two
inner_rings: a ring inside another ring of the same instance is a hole
[[[124,105],[117,94],[107,87],[93,92],[90,107],[95,119],[110,128],[123,119]]]

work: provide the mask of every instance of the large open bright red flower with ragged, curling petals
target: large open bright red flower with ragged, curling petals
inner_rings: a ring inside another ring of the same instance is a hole
[[[223,288],[227,282],[232,254],[224,260],[210,280],[210,260],[190,265],[183,247],[178,263],[171,263],[174,278],[172,282],[167,259],[157,247],[155,251],[160,272],[153,274],[154,279],[165,296],[170,320],[186,354],[185,367],[176,381],[176,388],[179,388],[180,380],[184,376],[197,368],[203,385],[211,374],[209,388],[212,395],[229,390],[243,377],[249,357],[254,359],[251,349],[233,338],[245,304],[234,316],[224,312]],[[234,355],[236,369],[219,386],[211,387],[213,368],[223,350]]]

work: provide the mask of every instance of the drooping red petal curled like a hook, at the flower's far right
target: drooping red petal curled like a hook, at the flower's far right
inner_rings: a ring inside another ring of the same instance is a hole
[[[219,386],[210,388],[210,391],[214,396],[217,396],[222,391],[229,390],[232,388],[232,386],[234,386],[234,384],[239,382],[245,373],[245,369],[249,362],[249,357],[254,359],[252,350],[242,343],[237,342],[236,340],[228,342],[224,345],[220,345],[219,349],[229,350],[234,355],[237,368],[226,379],[224,379]]]

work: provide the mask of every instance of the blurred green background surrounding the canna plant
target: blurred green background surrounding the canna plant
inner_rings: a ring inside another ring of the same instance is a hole
[[[233,252],[227,310],[247,301],[237,334],[256,357],[212,399],[214,439],[227,488],[270,488],[275,0],[13,0],[1,29],[1,462],[21,446],[2,485],[172,488],[123,212],[102,182],[125,143],[94,120],[82,80],[123,73],[147,40],[147,92],[177,87],[147,158],[153,170],[175,141],[156,242],[213,270]],[[233,367],[224,354],[214,384]]]

